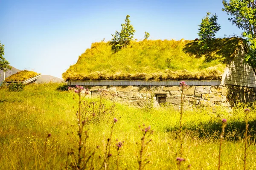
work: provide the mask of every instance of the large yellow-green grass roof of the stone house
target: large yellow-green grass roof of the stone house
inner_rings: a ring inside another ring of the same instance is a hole
[[[218,79],[243,41],[214,39],[207,53],[196,40],[131,41],[113,53],[109,42],[95,42],[62,77],[67,80],[99,79]]]

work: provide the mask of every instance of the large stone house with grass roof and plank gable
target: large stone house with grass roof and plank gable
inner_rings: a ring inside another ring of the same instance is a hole
[[[105,89],[109,98],[128,105],[180,105],[180,81],[185,81],[189,107],[230,107],[253,102],[256,76],[244,62],[242,39],[212,40],[202,52],[197,41],[132,41],[114,53],[108,42],[93,43],[75,65],[63,73],[68,85],[89,88],[91,97]]]

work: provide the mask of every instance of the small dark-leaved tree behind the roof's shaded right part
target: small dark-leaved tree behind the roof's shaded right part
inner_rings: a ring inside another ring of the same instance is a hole
[[[210,12],[207,12],[206,17],[202,19],[201,24],[199,25],[199,41],[198,44],[202,46],[203,51],[207,51],[208,42],[215,38],[215,34],[217,31],[221,29],[221,26],[217,23],[218,17],[212,15],[210,17]]]

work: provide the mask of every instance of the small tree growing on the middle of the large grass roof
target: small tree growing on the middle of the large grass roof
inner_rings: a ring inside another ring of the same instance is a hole
[[[129,15],[126,15],[125,23],[121,24],[121,32],[116,31],[115,34],[112,34],[111,44],[112,50],[115,52],[125,48],[134,37],[135,30],[130,23],[129,17]]]

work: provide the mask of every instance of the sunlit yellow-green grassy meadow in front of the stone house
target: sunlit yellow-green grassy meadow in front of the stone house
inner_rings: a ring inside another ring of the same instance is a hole
[[[72,169],[79,146],[78,103],[73,99],[75,93],[57,89],[60,84],[26,85],[21,92],[0,89],[0,169]],[[91,156],[88,169],[104,169],[102,164],[112,126],[109,169],[117,169],[117,164],[120,170],[138,169],[137,156],[143,136],[139,125],[143,128],[143,124],[154,130],[145,139],[152,141],[143,150],[143,159],[149,161],[144,169],[177,169],[180,113],[168,106],[147,110],[119,103],[114,105],[113,101],[104,98],[84,98],[82,112],[95,111],[95,117],[84,125],[89,136],[84,141],[84,154]],[[188,169],[188,165],[191,165],[190,170],[218,169],[222,119],[227,119],[227,127],[222,143],[221,169],[243,169],[245,107],[241,104],[230,113],[221,108],[185,111],[182,135],[183,158],[186,160],[181,169]],[[253,170],[256,169],[254,105],[250,110],[252,136],[247,149],[247,169]],[[117,119],[115,124],[113,118]],[[123,146],[117,150],[119,141]]]

